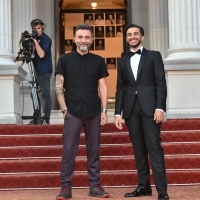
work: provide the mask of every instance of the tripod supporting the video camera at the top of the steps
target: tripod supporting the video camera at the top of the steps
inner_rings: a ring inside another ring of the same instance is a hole
[[[22,55],[22,51],[20,50],[18,53],[18,56],[16,57],[16,60],[19,58],[20,55]],[[24,65],[24,63],[27,63],[28,65],[28,69],[31,75],[31,81],[28,81],[29,85],[30,85],[30,90],[31,90],[31,99],[33,102],[33,116],[21,116],[22,119],[33,119],[30,121],[29,125],[36,125],[36,124],[42,124],[42,118],[41,118],[41,102],[40,102],[40,98],[39,98],[39,93],[41,92],[41,90],[39,89],[39,84],[37,82],[37,76],[36,76],[36,72],[35,72],[35,67],[34,64],[32,62],[31,57],[27,57],[27,58],[22,58],[22,64],[21,67]]]

